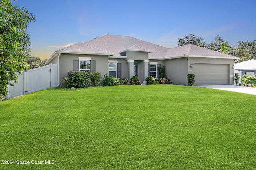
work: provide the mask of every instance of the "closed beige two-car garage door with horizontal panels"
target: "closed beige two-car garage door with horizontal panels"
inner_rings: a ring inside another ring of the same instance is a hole
[[[195,85],[228,84],[227,64],[197,64],[194,63]]]

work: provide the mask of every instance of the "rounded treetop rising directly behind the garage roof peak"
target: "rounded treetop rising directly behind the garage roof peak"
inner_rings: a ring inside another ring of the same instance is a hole
[[[178,39],[178,46],[193,44],[200,47],[207,47],[207,43],[201,37],[196,37],[193,33],[185,35],[183,38]]]

